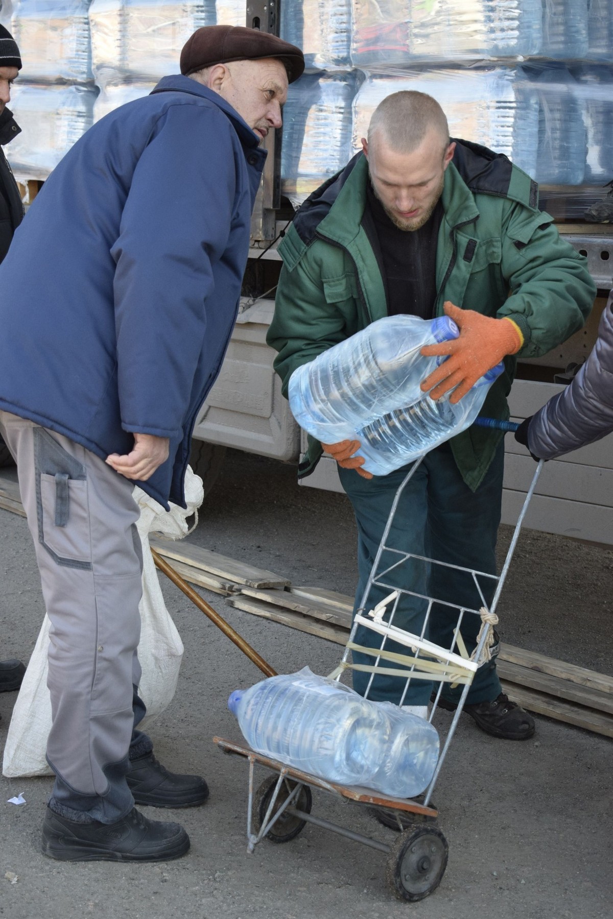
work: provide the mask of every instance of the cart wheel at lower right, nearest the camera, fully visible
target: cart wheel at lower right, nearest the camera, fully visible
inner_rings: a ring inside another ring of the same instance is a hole
[[[400,900],[423,900],[445,874],[448,851],[437,826],[423,823],[405,830],[390,849],[385,869],[388,886]]]

